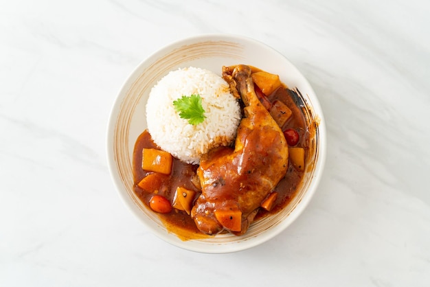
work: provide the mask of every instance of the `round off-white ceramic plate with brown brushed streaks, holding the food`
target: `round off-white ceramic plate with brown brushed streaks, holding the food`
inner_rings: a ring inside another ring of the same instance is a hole
[[[169,233],[157,214],[133,192],[132,157],[137,137],[146,129],[145,104],[150,89],[163,76],[179,67],[200,67],[220,75],[223,65],[246,64],[278,73],[290,89],[297,89],[313,118],[314,136],[304,182],[297,196],[282,211],[254,222],[243,236],[221,234],[199,240],[179,239]],[[315,124],[316,122],[316,124]],[[324,117],[312,87],[282,54],[258,41],[242,36],[213,34],[187,38],[163,47],[131,73],[117,95],[108,126],[107,156],[111,176],[126,206],[159,238],[183,249],[202,253],[228,253],[249,249],[278,235],[308,205],[323,172],[326,158]]]

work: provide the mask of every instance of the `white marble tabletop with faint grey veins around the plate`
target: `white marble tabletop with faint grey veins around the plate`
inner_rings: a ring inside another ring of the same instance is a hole
[[[426,0],[0,1],[0,286],[430,286],[429,14]],[[207,255],[126,209],[106,124],[144,58],[223,32],[304,73],[328,157],[291,227]]]

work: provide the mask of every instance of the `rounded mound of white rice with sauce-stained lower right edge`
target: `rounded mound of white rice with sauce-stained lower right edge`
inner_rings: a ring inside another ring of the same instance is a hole
[[[192,125],[181,119],[173,101],[199,94],[205,120]],[[240,107],[229,85],[212,71],[188,67],[171,71],[150,91],[146,104],[148,131],[157,145],[187,163],[200,162],[211,148],[228,146],[236,137]]]

